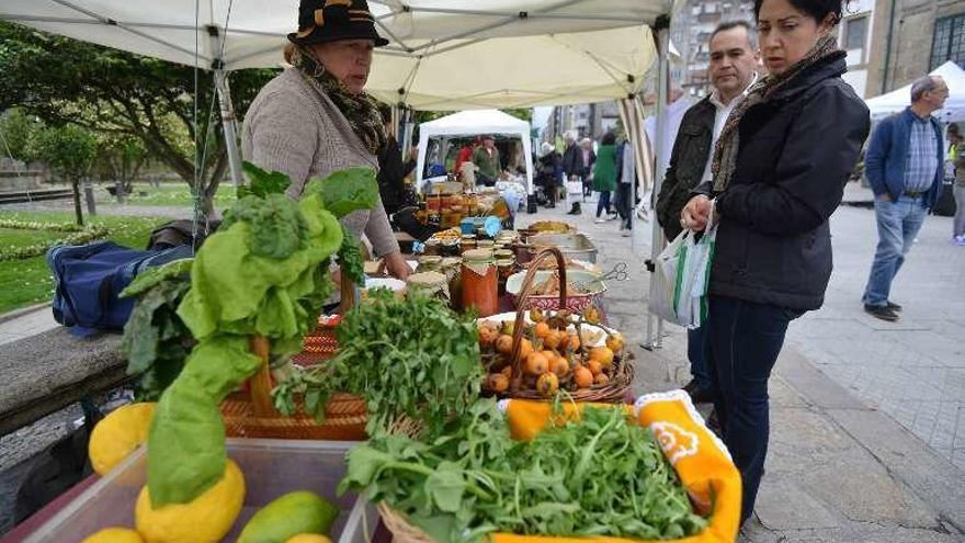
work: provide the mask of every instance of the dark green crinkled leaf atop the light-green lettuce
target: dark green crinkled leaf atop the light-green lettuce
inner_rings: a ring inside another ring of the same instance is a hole
[[[249,249],[259,257],[287,258],[305,240],[305,218],[295,202],[284,194],[249,195],[238,200],[225,213],[222,228],[230,228],[241,220],[250,225]]]

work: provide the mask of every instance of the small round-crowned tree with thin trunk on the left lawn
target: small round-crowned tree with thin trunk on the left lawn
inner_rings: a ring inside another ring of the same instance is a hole
[[[73,213],[77,224],[83,226],[80,207],[80,180],[90,171],[98,155],[98,140],[84,128],[65,125],[41,132],[35,140],[35,154],[55,174],[70,182],[73,189]]]

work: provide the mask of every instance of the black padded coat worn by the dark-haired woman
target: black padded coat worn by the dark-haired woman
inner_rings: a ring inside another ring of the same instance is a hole
[[[711,294],[798,310],[824,304],[828,218],[871,124],[844,71],[843,53],[828,57],[741,118],[737,168],[716,195]],[[709,183],[697,192],[714,195]]]

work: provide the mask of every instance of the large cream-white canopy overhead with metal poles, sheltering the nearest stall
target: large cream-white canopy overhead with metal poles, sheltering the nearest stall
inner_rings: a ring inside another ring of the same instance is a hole
[[[625,100],[640,111],[644,76],[668,50],[683,0],[370,0],[389,45],[376,50],[366,89],[416,110],[529,108]],[[0,19],[54,34],[211,69],[231,177],[241,182],[230,70],[277,67],[298,0],[3,0]],[[667,55],[658,63],[658,132],[667,101]],[[629,122],[638,160],[639,123]],[[524,142],[527,138],[524,138]],[[657,145],[657,156],[670,151]],[[640,165],[638,165],[639,167]],[[640,168],[640,171],[646,171]],[[654,172],[659,191],[663,172]],[[654,254],[659,252],[655,227]],[[662,238],[659,238],[662,239]],[[649,329],[648,341],[659,344]]]

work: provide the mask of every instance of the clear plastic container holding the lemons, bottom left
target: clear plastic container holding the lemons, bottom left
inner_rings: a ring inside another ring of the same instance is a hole
[[[311,490],[336,504],[341,512],[332,524],[337,543],[364,543],[375,533],[378,511],[356,495],[336,496],[345,474],[347,441],[228,439],[227,450],[245,473],[245,504],[228,535],[234,542],[248,519],[273,499],[295,490]],[[134,505],[147,480],[146,449],[140,448],[113,472],[84,490],[23,543],[80,543],[98,530],[134,528]],[[364,513],[364,514],[363,514]],[[364,522],[367,528],[363,527]]]

